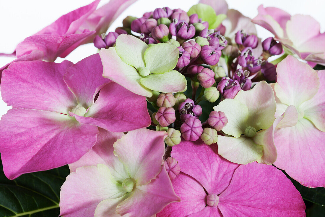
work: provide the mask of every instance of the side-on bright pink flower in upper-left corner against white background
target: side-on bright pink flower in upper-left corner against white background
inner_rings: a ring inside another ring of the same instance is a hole
[[[136,0],[111,0],[96,10],[99,1],[61,16],[33,36],[25,38],[12,54],[0,54],[17,57],[1,67],[0,74],[13,62],[43,59],[53,62],[58,56],[66,57],[79,45],[93,42],[96,35],[105,33],[123,10]]]

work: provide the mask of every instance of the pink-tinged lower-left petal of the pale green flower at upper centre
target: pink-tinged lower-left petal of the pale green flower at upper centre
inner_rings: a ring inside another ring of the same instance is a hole
[[[152,96],[151,90],[140,83],[142,76],[136,69],[124,63],[117,55],[115,48],[101,49],[99,56],[103,64],[103,77],[108,78],[129,91],[142,96]]]

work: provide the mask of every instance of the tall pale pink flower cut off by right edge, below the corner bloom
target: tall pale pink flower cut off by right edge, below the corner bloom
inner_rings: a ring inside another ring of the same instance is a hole
[[[287,56],[277,66],[274,163],[308,187],[325,187],[325,70]],[[283,115],[285,115],[283,117]]]

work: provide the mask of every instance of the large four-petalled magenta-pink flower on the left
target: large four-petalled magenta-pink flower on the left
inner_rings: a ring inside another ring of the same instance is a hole
[[[102,72],[99,54],[75,65],[23,61],[4,70],[1,95],[12,109],[0,121],[0,152],[9,179],[77,161],[95,144],[98,127],[124,132],[150,125],[145,97]]]

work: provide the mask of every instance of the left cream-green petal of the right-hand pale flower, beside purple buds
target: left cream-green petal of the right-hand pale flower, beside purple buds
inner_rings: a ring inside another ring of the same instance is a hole
[[[237,99],[225,99],[219,105],[213,107],[215,111],[223,111],[228,123],[222,131],[236,138],[243,134],[247,125],[248,108]]]

